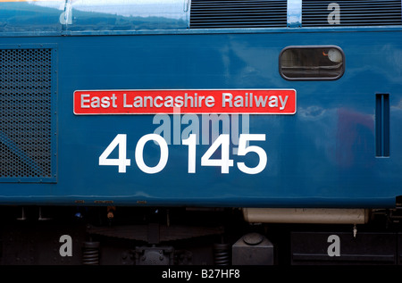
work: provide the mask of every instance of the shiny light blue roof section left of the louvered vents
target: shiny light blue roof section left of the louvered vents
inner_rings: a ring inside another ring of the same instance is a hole
[[[188,29],[188,0],[81,0],[0,3],[2,34]]]

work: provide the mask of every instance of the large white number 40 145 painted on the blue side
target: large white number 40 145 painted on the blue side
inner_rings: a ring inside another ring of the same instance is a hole
[[[155,166],[148,166],[144,162],[144,146],[149,141],[154,141],[160,148],[159,162]],[[265,141],[264,134],[241,134],[239,136],[239,156],[248,153],[258,154],[259,162],[255,167],[247,167],[245,162],[237,162],[240,171],[247,174],[257,174],[264,171],[267,162],[267,156],[264,149],[260,146],[247,146],[249,141]],[[196,173],[196,152],[197,137],[195,134],[189,135],[188,138],[182,140],[182,145],[188,146],[188,173]],[[118,158],[108,158],[113,150],[118,147]],[[212,159],[214,152],[221,147],[221,158]],[[135,159],[139,170],[147,174],[155,174],[163,171],[169,159],[169,147],[163,137],[157,134],[148,134],[139,138]],[[127,135],[118,134],[113,141],[106,147],[105,151],[99,156],[99,165],[117,166],[119,173],[125,173],[127,166],[131,165],[131,160],[127,158]],[[201,157],[201,166],[218,166],[221,167],[223,174],[229,173],[230,167],[234,166],[234,162],[230,159],[230,136],[222,134],[215,139],[214,143],[208,148]]]

